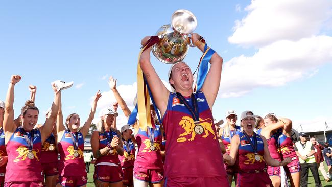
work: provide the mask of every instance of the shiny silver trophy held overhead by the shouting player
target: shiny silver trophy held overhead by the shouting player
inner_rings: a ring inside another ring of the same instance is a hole
[[[182,61],[190,44],[189,34],[197,26],[197,19],[188,10],[177,10],[173,13],[171,24],[163,25],[156,32],[159,42],[153,45],[152,53],[161,62],[173,64]]]

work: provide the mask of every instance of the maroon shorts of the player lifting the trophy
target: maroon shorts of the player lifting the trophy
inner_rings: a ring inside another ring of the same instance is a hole
[[[167,187],[210,187],[229,186],[227,176],[217,177],[167,177],[164,186]]]

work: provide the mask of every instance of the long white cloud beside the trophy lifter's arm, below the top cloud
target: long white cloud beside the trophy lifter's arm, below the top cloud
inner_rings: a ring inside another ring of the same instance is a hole
[[[280,40],[253,56],[241,55],[224,63],[219,96],[239,97],[257,87],[282,86],[312,76],[327,62],[332,62],[330,36]]]

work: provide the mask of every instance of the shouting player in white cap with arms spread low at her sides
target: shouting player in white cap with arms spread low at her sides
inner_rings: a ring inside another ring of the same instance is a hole
[[[236,158],[239,159],[236,186],[273,186],[266,165],[286,166],[291,159],[280,162],[270,156],[266,139],[253,131],[255,118],[252,111],[242,112],[240,121],[243,131],[233,136],[230,154],[224,154],[228,165],[234,165]]]

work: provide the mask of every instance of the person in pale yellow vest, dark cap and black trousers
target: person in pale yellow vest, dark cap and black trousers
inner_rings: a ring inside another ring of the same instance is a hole
[[[317,163],[315,160],[315,148],[310,141],[306,141],[306,134],[304,132],[299,133],[300,141],[295,143],[295,152],[299,157],[301,165],[301,186],[308,186],[308,168],[310,168],[311,173],[315,179],[316,186],[322,186],[319,174]]]

